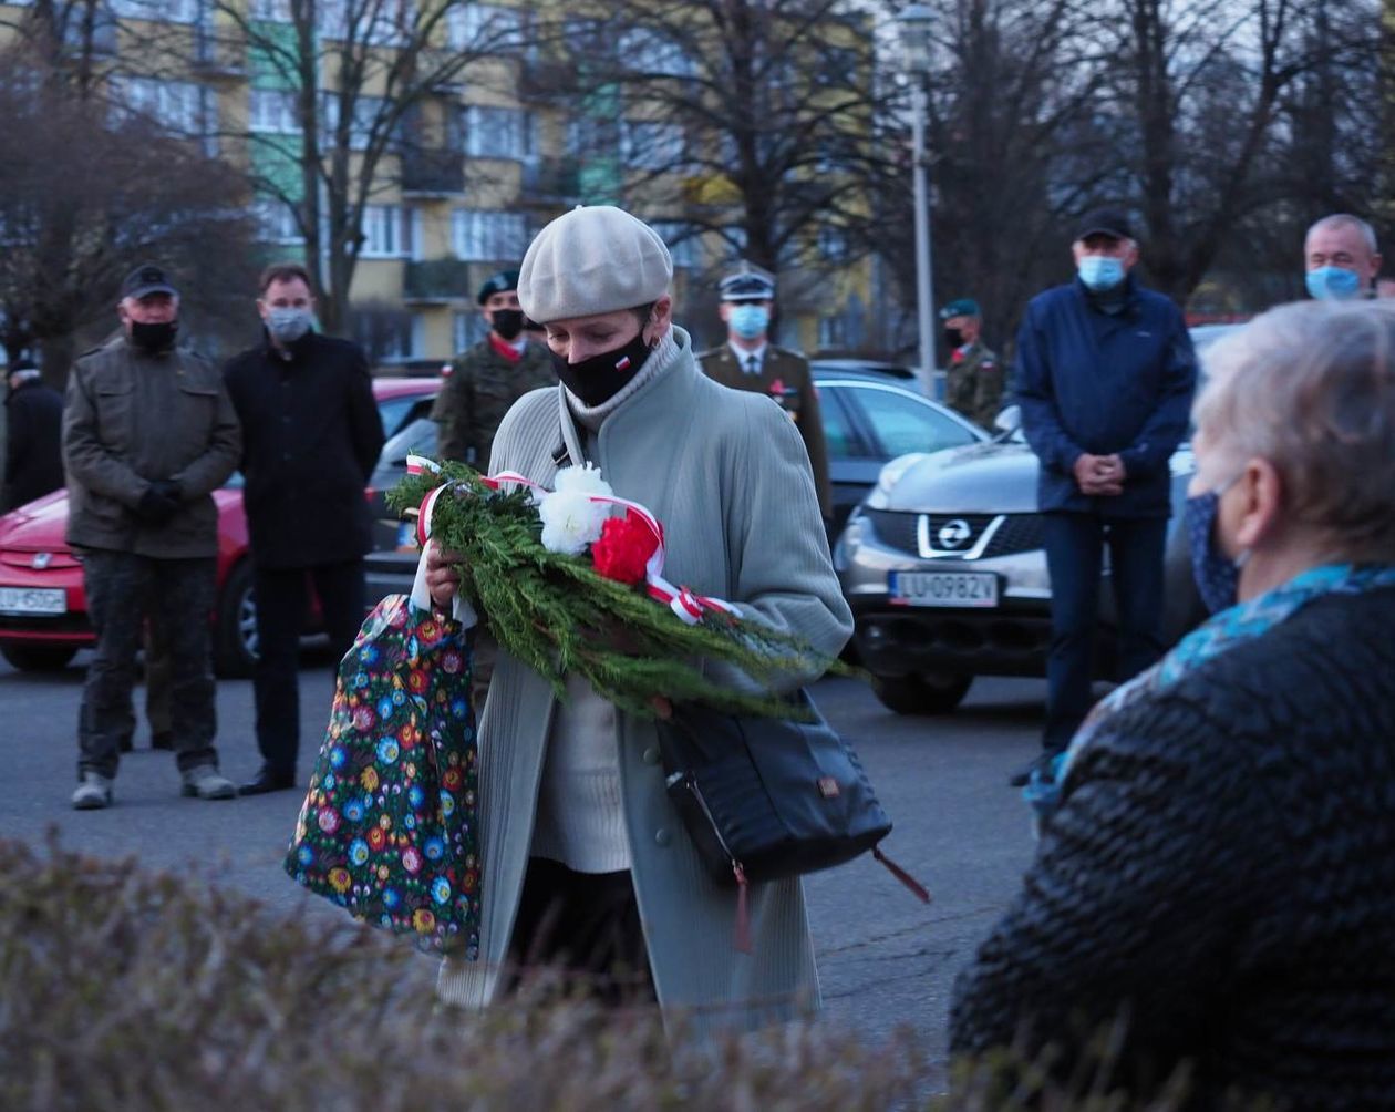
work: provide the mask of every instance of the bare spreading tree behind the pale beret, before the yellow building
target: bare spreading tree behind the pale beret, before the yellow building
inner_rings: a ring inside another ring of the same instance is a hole
[[[679,241],[720,236],[771,271],[861,250],[883,105],[870,22],[844,0],[617,0],[545,38],[573,60],[557,92],[583,198],[671,222]]]

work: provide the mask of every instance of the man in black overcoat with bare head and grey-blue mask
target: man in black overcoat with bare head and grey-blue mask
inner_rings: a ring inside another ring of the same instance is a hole
[[[368,361],[349,340],[314,331],[310,275],[268,266],[257,301],[261,345],[223,370],[243,423],[243,504],[257,597],[257,746],[262,767],[244,795],[296,784],[297,654],[314,585],[336,657],[364,615],[363,557],[372,522],[363,490],[382,451]]]

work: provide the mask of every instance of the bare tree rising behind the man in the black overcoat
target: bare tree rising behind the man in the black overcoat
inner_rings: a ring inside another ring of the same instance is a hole
[[[252,186],[290,215],[321,321],[342,329],[367,206],[413,174],[442,191],[465,188],[463,74],[520,49],[523,24],[480,24],[465,0],[213,6],[225,40],[246,49],[251,68],[254,119],[237,137],[251,153]],[[280,124],[268,128],[259,112]]]

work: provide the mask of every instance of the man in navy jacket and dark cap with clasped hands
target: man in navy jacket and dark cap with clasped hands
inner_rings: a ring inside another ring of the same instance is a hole
[[[1105,544],[1119,679],[1162,652],[1169,458],[1187,431],[1197,367],[1176,304],[1130,273],[1138,246],[1123,215],[1089,213],[1071,250],[1076,280],[1032,299],[1017,338],[1017,400],[1041,459],[1052,582],[1045,752],[1034,762],[1043,767],[1089,710]]]

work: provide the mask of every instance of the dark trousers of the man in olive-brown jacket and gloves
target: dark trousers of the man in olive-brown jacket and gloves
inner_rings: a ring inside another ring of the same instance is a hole
[[[155,559],[134,553],[88,550],[82,583],[96,631],[78,717],[78,772],[116,776],[123,739],[133,730],[135,653],[149,610],[169,649],[169,717],[180,770],[216,765],[218,732],[209,646],[213,608],[212,558]]]

